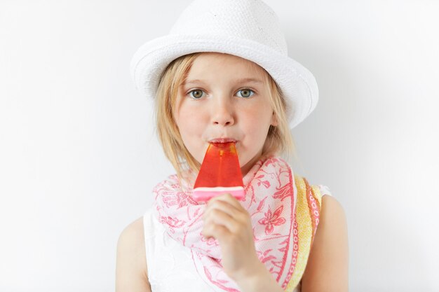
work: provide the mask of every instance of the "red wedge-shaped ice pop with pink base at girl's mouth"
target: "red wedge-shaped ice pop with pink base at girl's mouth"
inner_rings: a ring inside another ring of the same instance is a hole
[[[193,197],[196,201],[208,201],[224,193],[230,193],[238,200],[245,196],[235,142],[209,144],[195,181]]]

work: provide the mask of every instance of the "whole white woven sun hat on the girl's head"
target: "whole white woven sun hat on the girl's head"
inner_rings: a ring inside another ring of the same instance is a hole
[[[197,52],[236,55],[264,68],[287,100],[291,128],[316,107],[316,79],[302,64],[288,57],[278,17],[260,0],[192,2],[170,34],[145,43],[133,56],[130,71],[137,89],[147,97],[156,97],[168,64]]]

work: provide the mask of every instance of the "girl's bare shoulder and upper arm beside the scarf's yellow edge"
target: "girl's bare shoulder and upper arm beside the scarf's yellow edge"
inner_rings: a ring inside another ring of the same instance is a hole
[[[348,291],[349,248],[342,204],[323,195],[319,221],[302,277],[302,291]]]

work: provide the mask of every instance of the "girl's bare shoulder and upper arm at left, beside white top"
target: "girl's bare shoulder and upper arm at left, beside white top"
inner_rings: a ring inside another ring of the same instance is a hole
[[[143,217],[126,226],[119,236],[116,291],[151,291],[147,277]]]

